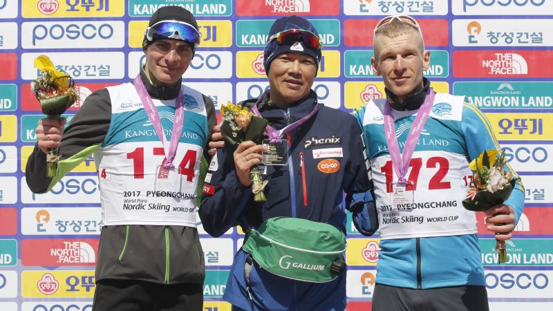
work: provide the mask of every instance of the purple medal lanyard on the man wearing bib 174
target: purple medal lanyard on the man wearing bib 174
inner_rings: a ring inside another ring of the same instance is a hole
[[[178,140],[180,138],[180,133],[182,132],[182,124],[185,122],[185,109],[183,107],[184,105],[182,104],[182,88],[180,88],[178,91],[178,97],[175,107],[175,120],[173,122],[173,133],[171,133],[171,142],[169,142],[168,151],[167,148],[165,148],[165,135],[163,134],[158,109],[156,109],[156,105],[153,104],[148,91],[146,91],[144,83],[142,83],[142,79],[140,79],[140,75],[137,75],[135,77],[134,87],[136,88],[136,92],[140,97],[140,101],[142,102],[142,106],[144,106],[146,114],[150,118],[153,128],[156,129],[156,133],[158,133],[161,143],[163,144],[163,152],[165,152],[165,162],[163,162],[162,165],[165,169],[172,169],[175,167],[173,164],[173,160],[175,159],[175,155],[177,153]]]

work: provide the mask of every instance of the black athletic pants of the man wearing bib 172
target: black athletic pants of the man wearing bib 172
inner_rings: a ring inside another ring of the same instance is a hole
[[[373,311],[488,311],[485,286],[413,290],[375,285]]]

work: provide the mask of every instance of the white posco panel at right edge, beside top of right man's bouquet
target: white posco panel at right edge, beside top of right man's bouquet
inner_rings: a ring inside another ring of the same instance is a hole
[[[553,144],[501,144],[501,150],[514,171],[553,171]]]

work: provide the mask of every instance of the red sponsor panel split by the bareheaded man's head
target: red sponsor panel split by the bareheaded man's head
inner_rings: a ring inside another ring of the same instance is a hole
[[[344,43],[346,46],[373,46],[373,32],[379,19],[346,19]],[[449,23],[445,19],[418,20],[423,33],[424,46],[447,46]]]

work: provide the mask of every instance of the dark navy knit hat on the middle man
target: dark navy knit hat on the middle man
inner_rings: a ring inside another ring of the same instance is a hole
[[[319,32],[317,32],[317,29],[315,29],[315,26],[313,26],[310,21],[304,19],[303,17],[292,15],[289,17],[281,17],[274,21],[271,29],[269,30],[268,38],[272,37],[272,35],[288,29],[307,30],[319,37]],[[319,62],[321,62],[321,48],[310,48],[306,46],[303,41],[297,41],[293,44],[279,44],[277,40],[272,40],[267,43],[267,45],[265,46],[265,50],[263,51],[263,66],[265,66],[265,74],[269,75],[269,67],[271,66],[271,62],[275,57],[282,53],[289,52],[303,53],[310,57],[313,57],[313,59],[315,59],[315,64],[317,64],[317,70],[319,70]],[[317,75],[317,70],[315,71],[315,75]]]

